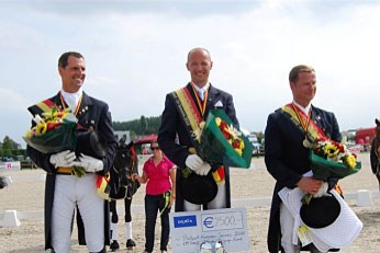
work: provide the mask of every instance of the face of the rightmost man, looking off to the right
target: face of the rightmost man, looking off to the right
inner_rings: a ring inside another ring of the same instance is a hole
[[[290,82],[293,99],[302,106],[308,106],[314,99],[316,92],[316,80],[314,72],[300,72],[297,82]]]

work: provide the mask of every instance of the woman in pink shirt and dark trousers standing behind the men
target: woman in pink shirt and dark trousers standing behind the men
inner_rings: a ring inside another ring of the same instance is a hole
[[[146,184],[145,195],[145,251],[153,252],[157,212],[161,218],[160,251],[167,252],[169,242],[169,212],[176,199],[176,165],[163,154],[157,141],[150,143],[153,156],[146,160],[143,176],[137,180]]]

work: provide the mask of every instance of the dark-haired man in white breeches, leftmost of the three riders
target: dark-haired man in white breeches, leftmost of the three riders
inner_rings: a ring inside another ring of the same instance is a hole
[[[105,252],[109,244],[108,203],[97,194],[97,177],[112,166],[116,140],[111,114],[107,103],[82,91],[86,78],[85,58],[68,51],[58,60],[62,89],[55,96],[29,107],[33,115],[42,115],[48,107],[59,111],[71,108],[81,130],[97,130],[107,140],[102,159],[65,150],[58,153],[42,153],[27,146],[27,154],[37,166],[47,172],[45,185],[45,249],[52,252],[70,252],[70,237],[75,209],[78,208],[79,243],[87,244],[89,252]],[[35,124],[35,123],[33,123]],[[80,145],[80,143],[79,143]],[[78,177],[74,166],[81,166],[86,174]],[[81,238],[83,235],[85,238]]]

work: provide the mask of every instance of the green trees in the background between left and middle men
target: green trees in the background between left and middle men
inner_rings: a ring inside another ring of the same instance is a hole
[[[114,130],[131,131],[131,138],[133,139],[133,136],[157,134],[159,125],[161,124],[161,117],[145,117],[142,115],[139,119],[113,122],[112,124]]]

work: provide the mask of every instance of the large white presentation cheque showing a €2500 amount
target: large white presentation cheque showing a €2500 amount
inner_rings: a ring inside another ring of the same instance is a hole
[[[200,252],[203,242],[221,241],[227,252],[249,250],[245,208],[170,212],[172,252]]]

